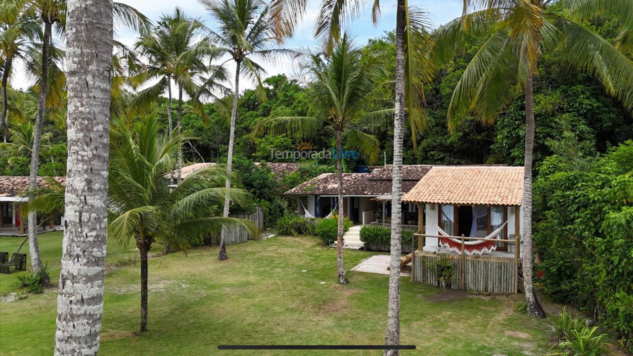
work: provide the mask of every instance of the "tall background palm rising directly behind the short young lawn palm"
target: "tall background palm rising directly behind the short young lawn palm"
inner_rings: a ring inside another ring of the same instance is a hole
[[[207,67],[203,58],[205,54],[212,51],[201,51],[201,48],[208,49],[211,44],[208,39],[198,40],[203,23],[199,20],[189,18],[182,10],[176,8],[173,15],[161,16],[158,25],[152,33],[145,34],[137,42],[136,48],[141,49],[141,53],[149,59],[146,79],[160,79],[156,84],[144,89],[134,99],[134,106],[147,106],[160,94],[167,92],[167,118],[170,132],[173,130],[172,122],[172,79],[178,86],[178,106],[176,127],[182,125],[182,95],[188,94],[194,103],[194,109],[203,113],[201,103],[197,100],[201,86],[206,87],[205,92],[209,96],[214,96],[215,90],[225,89],[220,82],[225,80],[221,67]],[[203,75],[210,73],[210,77]],[[197,81],[202,84],[196,83]],[[179,151],[177,165],[177,181],[180,182],[182,172],[182,149]]]

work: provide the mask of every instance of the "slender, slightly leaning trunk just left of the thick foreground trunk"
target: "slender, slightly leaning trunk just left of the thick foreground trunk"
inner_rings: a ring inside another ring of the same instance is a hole
[[[35,117],[35,132],[33,137],[33,147],[31,149],[31,165],[28,174],[28,189],[37,189],[37,167],[39,165],[40,144],[42,141],[42,127],[44,126],[44,115],[46,114],[46,94],[48,92],[48,63],[51,46],[51,32],[53,25],[50,21],[44,21],[44,39],[42,42],[42,77],[40,80],[40,92],[37,100],[37,116]],[[32,200],[32,197],[28,198]],[[37,246],[37,212],[28,213],[28,251],[31,255],[31,268],[33,272],[42,269],[42,258]],[[49,283],[49,276],[44,277]]]

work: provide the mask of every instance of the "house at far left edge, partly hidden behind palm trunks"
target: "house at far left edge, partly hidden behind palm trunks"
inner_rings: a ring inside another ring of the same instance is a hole
[[[37,184],[46,187],[48,177],[37,177]],[[66,177],[53,177],[61,184],[66,183]],[[27,198],[22,195],[28,190],[28,177],[22,175],[0,175],[0,235],[21,236],[25,234],[27,226],[25,217],[20,213],[18,205]],[[49,224],[42,224],[38,233],[51,230],[60,230],[63,225],[63,216],[53,217]],[[38,222],[40,223],[40,222]]]

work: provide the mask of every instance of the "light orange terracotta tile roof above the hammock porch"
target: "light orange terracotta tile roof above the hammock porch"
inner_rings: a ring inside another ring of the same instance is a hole
[[[520,205],[523,167],[434,166],[403,201],[460,205]]]

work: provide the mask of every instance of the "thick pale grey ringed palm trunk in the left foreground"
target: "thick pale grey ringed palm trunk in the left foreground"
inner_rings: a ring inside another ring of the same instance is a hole
[[[68,0],[68,165],[55,355],[97,355],[103,313],[112,1]]]

